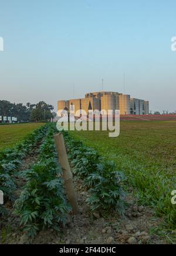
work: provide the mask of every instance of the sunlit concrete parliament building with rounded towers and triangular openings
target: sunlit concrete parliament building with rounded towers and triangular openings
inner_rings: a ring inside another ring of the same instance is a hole
[[[120,110],[120,114],[148,114],[149,101],[131,98],[130,95],[113,91],[98,91],[87,93],[84,99],[57,101],[57,110],[69,111],[75,105],[77,110]]]

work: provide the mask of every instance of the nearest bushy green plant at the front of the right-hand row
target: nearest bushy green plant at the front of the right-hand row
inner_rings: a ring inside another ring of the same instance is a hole
[[[116,170],[113,161],[103,160],[97,164],[97,172],[91,173],[84,180],[85,185],[90,187],[90,197],[87,199],[90,208],[93,211],[114,210],[124,214],[126,206],[122,188],[124,179],[124,174]]]

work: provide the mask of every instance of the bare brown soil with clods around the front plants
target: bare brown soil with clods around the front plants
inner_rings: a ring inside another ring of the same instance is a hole
[[[24,167],[31,165],[26,159]],[[80,207],[78,215],[70,215],[65,227],[60,228],[60,235],[52,229],[40,231],[32,241],[19,228],[19,218],[12,213],[2,229],[1,239],[4,244],[164,244],[165,241],[150,233],[150,229],[160,224],[154,218],[150,208],[137,206],[132,192],[128,195],[128,208],[124,217],[118,215],[100,216],[90,211],[86,205],[88,192],[83,181],[75,179],[77,200]],[[2,243],[1,242],[1,243]]]

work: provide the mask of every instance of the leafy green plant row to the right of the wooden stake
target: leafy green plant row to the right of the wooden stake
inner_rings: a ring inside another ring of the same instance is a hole
[[[73,172],[84,179],[84,185],[89,189],[87,203],[90,208],[123,214],[126,205],[122,188],[124,174],[116,169],[113,161],[105,160],[96,150],[84,146],[67,132],[63,135]]]

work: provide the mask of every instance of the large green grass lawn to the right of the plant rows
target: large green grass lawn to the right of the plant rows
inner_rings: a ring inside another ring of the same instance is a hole
[[[104,131],[70,133],[114,160],[141,203],[153,206],[167,228],[176,228],[176,122],[120,122],[116,138]]]

